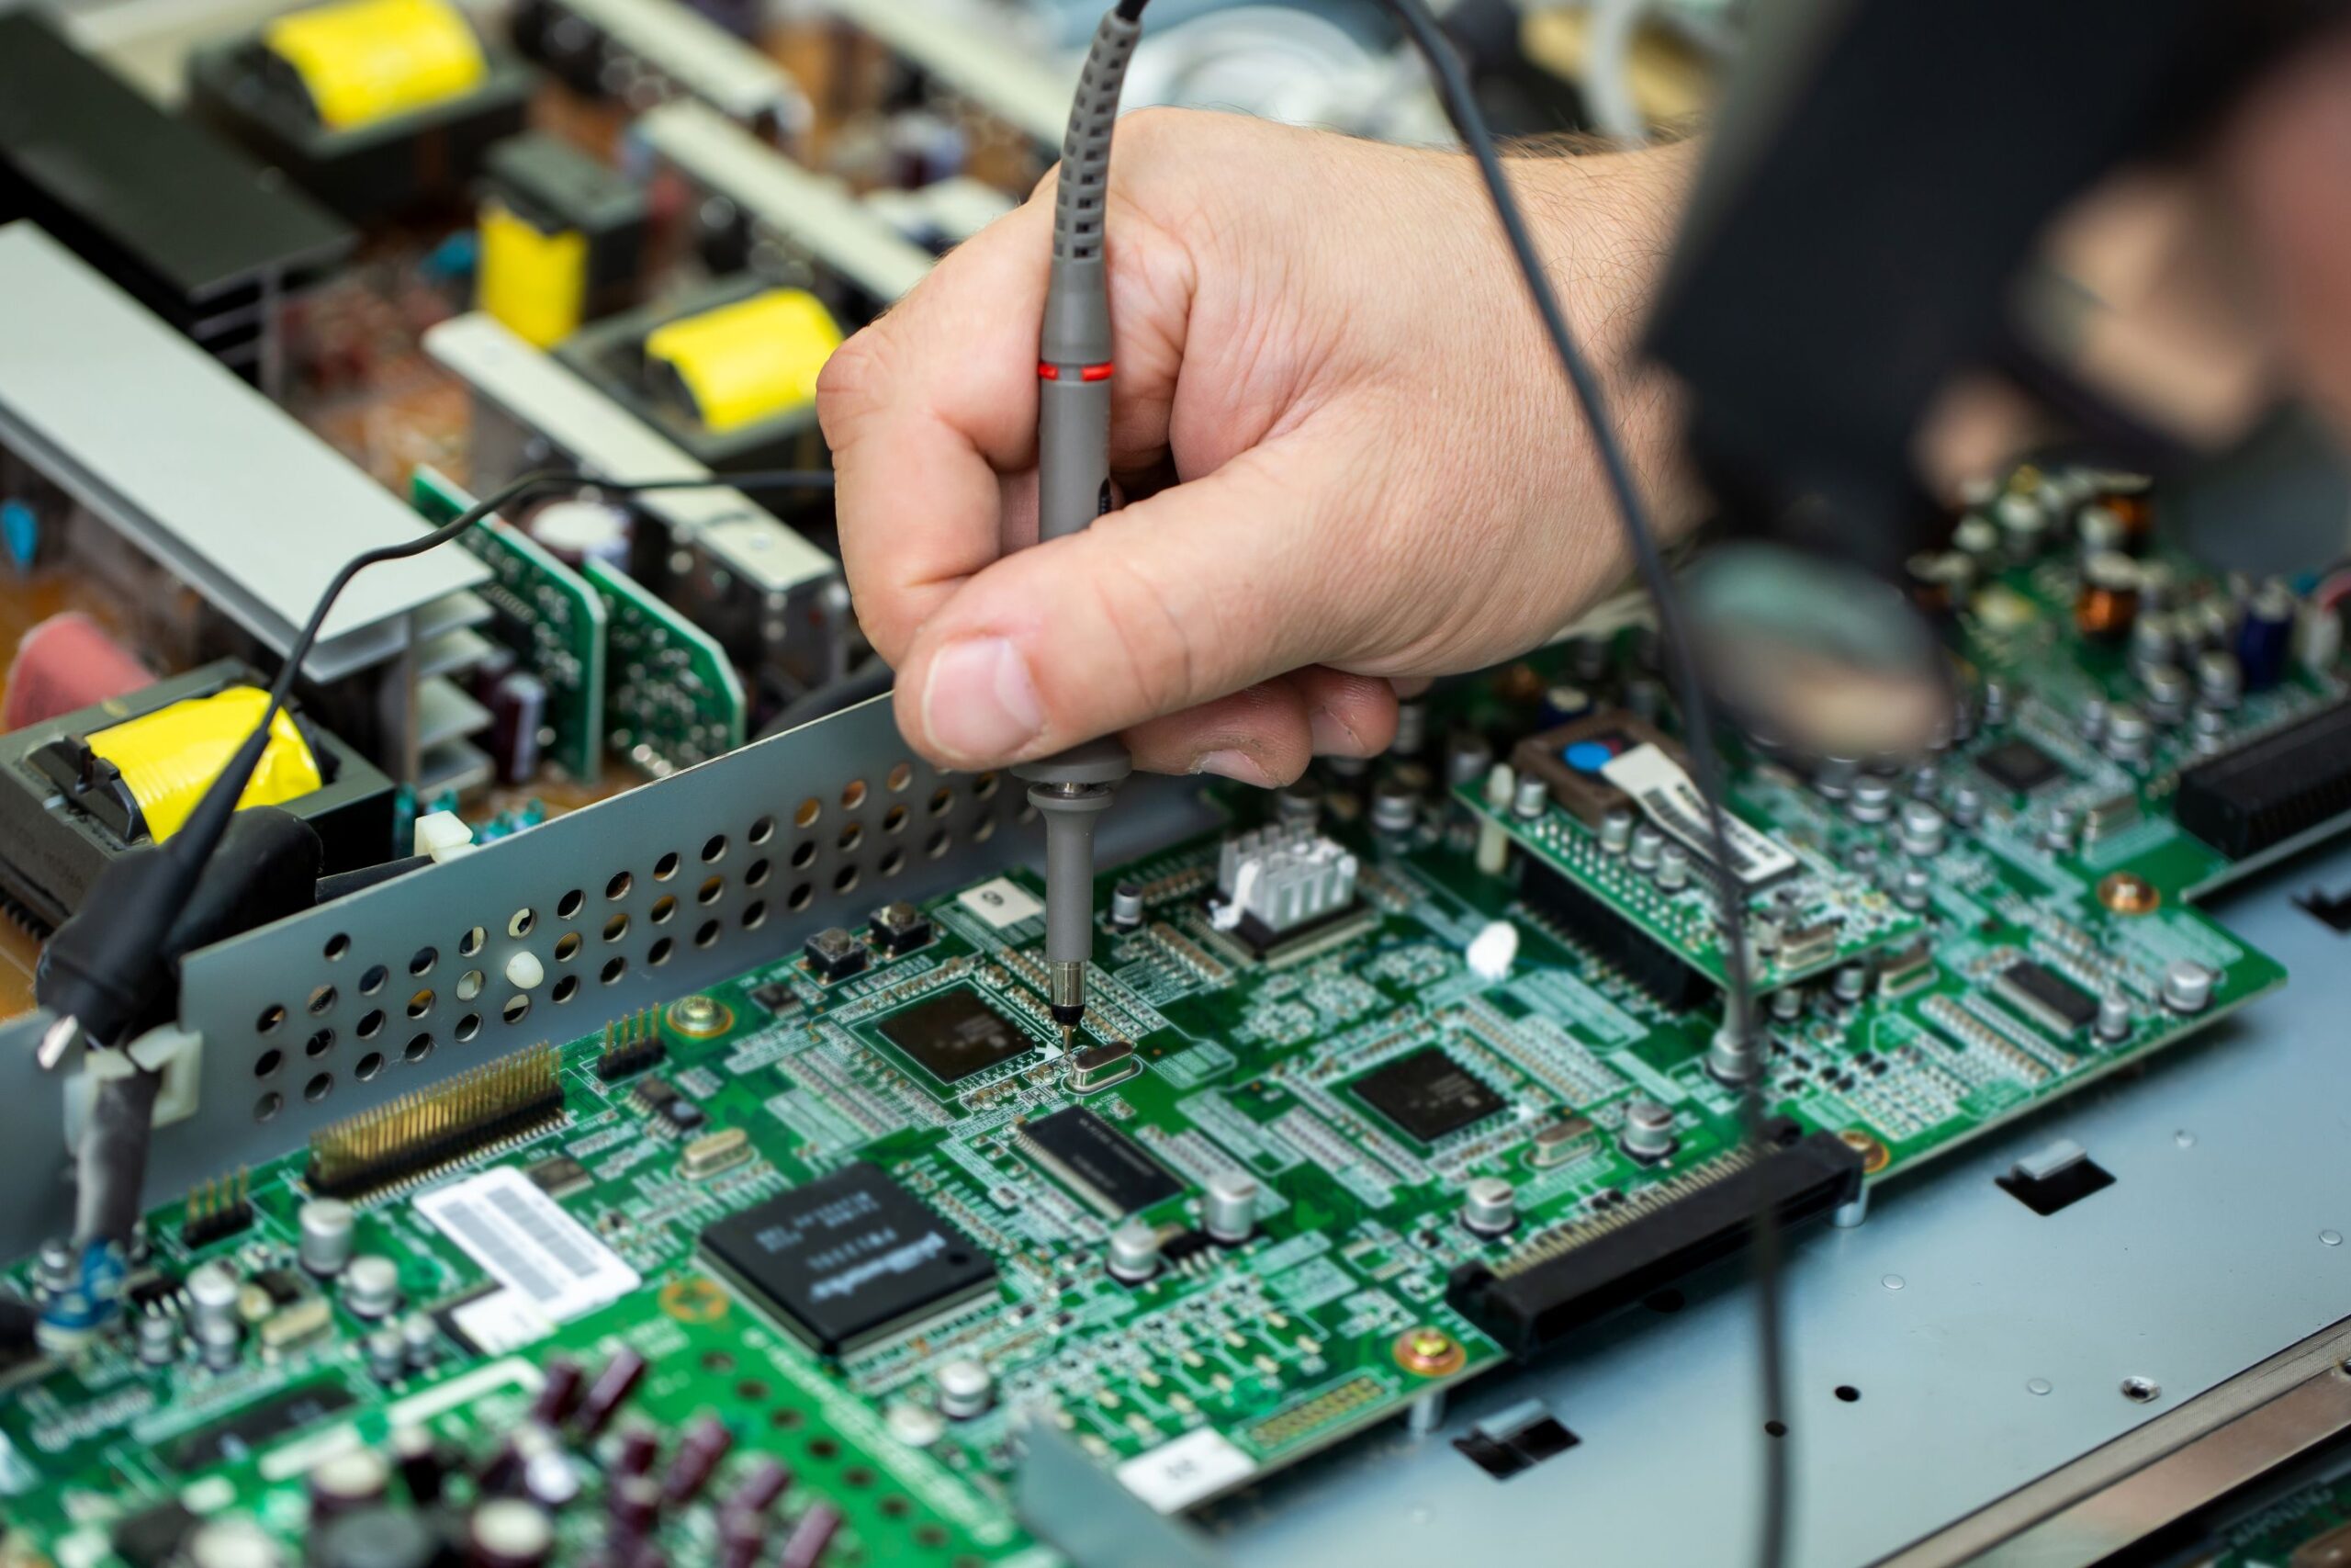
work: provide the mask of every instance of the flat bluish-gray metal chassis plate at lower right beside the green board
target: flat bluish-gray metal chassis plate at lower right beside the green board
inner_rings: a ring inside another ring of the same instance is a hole
[[[1794,1563],[1886,1556],[2351,1312],[2351,938],[2295,907],[2311,886],[2351,886],[2351,846],[2215,910],[2288,964],[2290,987],[2139,1077],[1876,1190],[1857,1229],[1801,1237]],[[1991,1180],[2052,1138],[2116,1185],[2043,1220]],[[2163,1396],[2125,1399],[2135,1375]],[[1582,1446],[1512,1481],[1451,1448],[1531,1394]],[[1747,1561],[1766,1441],[1733,1267],[1672,1316],[1641,1312],[1465,1389],[1432,1439],[1392,1425],[1262,1488],[1227,1509],[1220,1544],[1237,1568]]]

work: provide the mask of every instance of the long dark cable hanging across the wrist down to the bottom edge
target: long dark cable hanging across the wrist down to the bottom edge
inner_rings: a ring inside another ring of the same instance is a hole
[[[1509,249],[1519,261],[1519,273],[1526,277],[1526,292],[1535,301],[1538,315],[1542,315],[1542,327],[1552,339],[1552,350],[1559,355],[1559,367],[1575,388],[1575,402],[1582,404],[1585,423],[1592,430],[1592,447],[1601,456],[1601,468],[1608,475],[1608,489],[1615,496],[1617,520],[1625,531],[1625,543],[1632,550],[1634,569],[1641,576],[1643,590],[1648,590],[1648,597],[1657,607],[1657,635],[1665,644],[1667,675],[1674,682],[1674,701],[1681,705],[1683,745],[1690,750],[1690,776],[1697,783],[1700,797],[1707,802],[1707,837],[1714,844],[1714,886],[1721,893],[1719,924],[1726,980],[1723,992],[1728,999],[1726,1023],[1735,1032],[1735,1039],[1754,1051],[1756,1063],[1754,1077],[1740,1093],[1740,1119],[1744,1121],[1747,1140],[1756,1157],[1756,1363],[1763,1392],[1763,1420],[1770,1422],[1766,1432],[1780,1429],[1780,1408],[1784,1403],[1787,1382],[1780,1347],[1780,1237],[1770,1204],[1763,1199],[1761,1180],[1761,1164],[1768,1143],[1763,1131],[1768,1048],[1754,1034],[1754,994],[1747,969],[1747,893],[1730,870],[1737,860],[1730,856],[1730,827],[1723,816],[1723,771],[1714,745],[1714,719],[1707,705],[1704,682],[1697,670],[1697,656],[1681,611],[1681,599],[1674,592],[1674,578],[1665,567],[1665,555],[1657,548],[1657,534],[1648,522],[1648,508],[1641,503],[1632,465],[1625,461],[1625,449],[1617,444],[1615,421],[1608,414],[1608,397],[1599,376],[1592,374],[1592,364],[1575,346],[1575,331],[1568,327],[1568,317],[1559,308],[1559,296],[1552,292],[1549,273],[1542,270],[1542,254],[1535,249],[1535,237],[1528,233],[1519,202],[1509,193],[1509,176],[1502,169],[1502,155],[1495,148],[1493,132],[1486,127],[1486,115],[1479,110],[1476,94],[1469,87],[1469,75],[1462,71],[1460,56],[1453,52],[1451,40],[1436,26],[1436,19],[1422,0],[1385,2],[1387,9],[1396,14],[1396,21],[1404,24],[1404,31],[1411,33],[1422,59],[1427,59],[1429,73],[1436,78],[1439,99],[1446,106],[1446,118],[1469,148],[1469,155],[1476,158],[1479,174],[1486,179],[1486,193],[1493,197],[1495,216],[1502,221],[1502,235],[1509,240]],[[1756,1547],[1756,1561],[1763,1563],[1763,1568],[1780,1568],[1787,1556],[1787,1481],[1784,1439],[1768,1439],[1763,1446],[1763,1516],[1759,1526],[1761,1540]]]

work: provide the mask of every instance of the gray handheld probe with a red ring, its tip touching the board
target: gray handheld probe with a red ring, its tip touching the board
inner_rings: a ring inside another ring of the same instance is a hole
[[[1143,2],[1119,0],[1093,31],[1070,103],[1053,190],[1053,270],[1037,336],[1037,538],[1084,531],[1110,510],[1110,270],[1103,221],[1110,193],[1110,127],[1119,118],[1126,61],[1143,35]],[[1133,771],[1117,738],[1089,741],[1013,773],[1044,816],[1044,957],[1053,1020],[1086,1016],[1093,959],[1093,825]]]

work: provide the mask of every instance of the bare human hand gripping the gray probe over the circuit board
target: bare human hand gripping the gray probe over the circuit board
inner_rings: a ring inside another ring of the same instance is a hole
[[[1519,158],[1554,287],[1674,522],[1674,407],[1629,367],[1690,148]],[[945,766],[1121,731],[1274,785],[1368,757],[1394,684],[1526,651],[1625,574],[1589,435],[1467,158],[1178,110],[1119,120],[1110,461],[1037,548],[1051,183],[825,367],[842,559]]]

